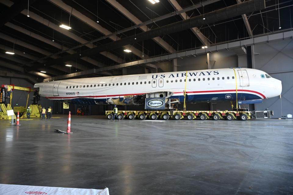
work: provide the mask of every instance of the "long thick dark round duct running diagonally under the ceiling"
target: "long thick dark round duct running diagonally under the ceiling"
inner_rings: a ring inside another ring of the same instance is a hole
[[[221,20],[229,19],[235,16],[240,16],[244,13],[251,13],[255,11],[259,11],[261,9],[265,9],[265,0],[250,0],[247,2],[239,3],[236,5],[232,5],[226,8],[222,8],[210,13],[206,13],[204,15],[195,16],[193,18],[190,18],[188,20],[182,20],[179,22],[175,22],[172,24],[168,24],[156,29],[153,29],[151,31],[143,32],[140,34],[136,34],[135,36],[130,36],[127,38],[120,39],[115,42],[110,42],[104,45],[97,46],[92,49],[87,49],[81,52],[82,56],[91,56],[99,52],[108,51],[112,49],[117,49],[119,47],[122,47],[124,45],[128,44],[134,44],[136,42],[141,42],[143,40],[148,40],[154,37],[162,36],[165,34],[172,34],[179,31],[184,31],[187,29],[190,29],[192,27],[197,27],[201,25],[206,25],[209,23],[218,22]],[[203,20],[203,17],[206,19]],[[134,39],[136,37],[136,39]],[[62,62],[66,62],[69,60],[80,58],[79,53],[71,54],[68,56],[64,56],[55,60],[49,61],[47,64],[58,64]],[[32,69],[30,69],[32,70]]]

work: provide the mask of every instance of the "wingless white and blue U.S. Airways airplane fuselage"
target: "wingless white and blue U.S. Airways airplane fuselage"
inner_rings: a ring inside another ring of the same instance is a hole
[[[261,70],[224,68],[212,70],[136,74],[68,79],[37,83],[39,95],[75,104],[119,104],[129,96],[172,92],[182,102],[186,84],[187,102],[255,100],[279,96],[281,81]],[[114,101],[115,100],[115,101]],[[122,103],[121,103],[122,104]]]

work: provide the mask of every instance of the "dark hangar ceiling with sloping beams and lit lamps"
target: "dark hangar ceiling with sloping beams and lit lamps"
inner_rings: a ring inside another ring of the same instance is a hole
[[[260,11],[139,39],[145,32],[200,15],[205,18],[210,12],[240,3],[241,0],[161,0],[155,4],[149,0],[96,0],[90,3],[31,0],[28,5],[25,0],[0,0],[0,62],[3,62],[0,66],[14,72],[21,68],[33,75],[44,71],[46,73],[38,76],[48,78],[292,29],[293,1],[266,0],[266,8]],[[205,19],[208,20],[210,18]],[[147,25],[142,25],[145,23]],[[61,24],[71,29],[61,28]],[[131,44],[107,47],[133,36],[138,39]],[[103,51],[88,55],[89,49],[98,51],[103,46],[106,47]],[[127,53],[125,49],[132,52]],[[5,53],[13,50],[14,55]],[[76,58],[56,61],[74,54]],[[56,63],[50,64],[52,62]],[[66,67],[66,64],[72,67]],[[94,75],[112,73],[113,70],[107,70]]]

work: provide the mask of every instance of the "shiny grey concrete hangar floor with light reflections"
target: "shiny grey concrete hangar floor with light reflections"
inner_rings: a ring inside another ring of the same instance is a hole
[[[56,115],[55,115],[56,117]],[[114,194],[292,194],[293,120],[0,121],[0,183]]]

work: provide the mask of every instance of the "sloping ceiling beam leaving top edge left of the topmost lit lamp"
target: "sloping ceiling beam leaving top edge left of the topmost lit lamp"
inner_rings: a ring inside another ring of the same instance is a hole
[[[120,3],[118,3],[116,0],[106,0],[108,3],[110,3],[114,8],[116,8],[119,12],[121,12],[124,16],[126,16],[130,21],[132,21],[135,24],[140,24],[142,21],[140,21],[136,16],[134,16],[132,13],[130,13],[125,7],[123,7]],[[139,27],[143,32],[150,31],[150,29],[147,26],[141,26]],[[159,44],[163,49],[165,49],[169,53],[174,53],[176,50],[169,45],[167,42],[165,42],[161,37],[154,37],[152,38],[157,44]]]

